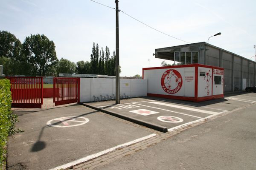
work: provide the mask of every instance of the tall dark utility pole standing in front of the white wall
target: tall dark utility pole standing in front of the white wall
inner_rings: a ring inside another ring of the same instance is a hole
[[[120,79],[119,79],[119,22],[118,22],[118,0],[116,3],[116,105],[120,104]]]

